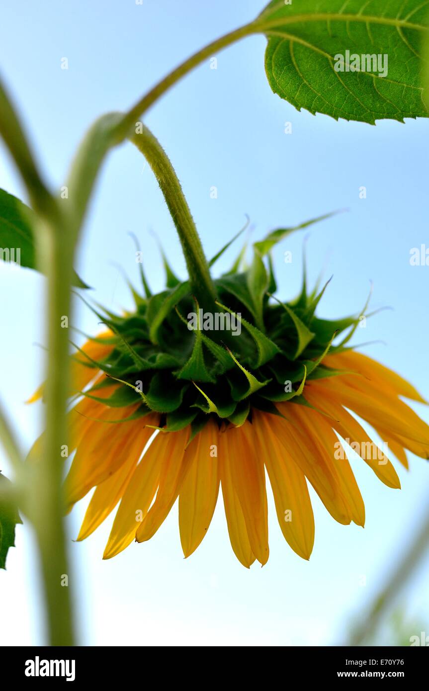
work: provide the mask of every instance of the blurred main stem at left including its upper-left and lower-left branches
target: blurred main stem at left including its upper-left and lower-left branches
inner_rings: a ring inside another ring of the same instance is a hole
[[[37,461],[19,464],[12,433],[1,419],[0,433],[17,467],[26,513],[33,524],[39,547],[46,622],[50,645],[73,645],[70,588],[64,585],[69,569],[66,553],[64,502],[62,499],[61,446],[67,444],[66,401],[68,392],[68,330],[61,316],[70,319],[70,287],[74,243],[66,216],[48,191],[35,164],[19,117],[0,84],[0,134],[17,165],[33,209],[39,218],[35,227],[37,258],[48,276],[46,381],[46,433]],[[20,469],[21,468],[21,469]]]

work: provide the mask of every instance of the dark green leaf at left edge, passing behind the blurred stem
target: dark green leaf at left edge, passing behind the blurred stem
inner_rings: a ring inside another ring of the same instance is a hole
[[[35,212],[21,200],[0,189],[0,259],[15,261],[27,269],[37,269],[36,251],[32,228]],[[6,254],[5,254],[6,253]],[[75,273],[73,285],[88,288]]]

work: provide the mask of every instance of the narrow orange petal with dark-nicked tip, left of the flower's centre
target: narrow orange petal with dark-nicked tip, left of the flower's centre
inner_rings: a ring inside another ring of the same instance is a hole
[[[169,454],[166,454],[162,461],[160,486],[155,502],[135,533],[137,542],[150,540],[169,515],[171,507],[178,498],[184,477],[189,470],[193,456],[193,444],[197,441],[193,439],[185,451],[189,439],[189,427],[179,432],[161,434],[171,437],[171,448]]]

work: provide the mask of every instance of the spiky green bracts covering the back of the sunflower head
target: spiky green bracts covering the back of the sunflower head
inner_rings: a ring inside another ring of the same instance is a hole
[[[289,231],[270,233],[269,247]],[[339,373],[323,366],[323,358],[328,350],[343,350],[361,314],[338,321],[318,319],[314,312],[326,286],[308,293],[305,279],[295,301],[278,301],[270,292],[276,290],[271,261],[267,266],[260,253],[266,243],[256,243],[254,260],[245,271],[235,263],[213,281],[218,299],[210,312],[198,304],[188,282],[152,295],[143,274],[144,294],[133,289],[133,314],[91,308],[113,332],[115,347],[102,361],[80,351],[80,362],[108,375],[84,395],[112,407],[140,404],[128,419],[155,411],[164,430],[191,424],[193,433],[209,415],[240,426],[252,408],[278,413],[276,402],[294,399],[305,404],[305,381]],[[171,285],[168,264],[166,276]],[[347,329],[347,337],[332,345]],[[112,379],[118,382],[115,392],[107,399],[97,397],[99,388],[111,385]]]

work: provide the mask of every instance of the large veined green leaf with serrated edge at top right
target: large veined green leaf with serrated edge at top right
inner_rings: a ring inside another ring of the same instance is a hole
[[[428,117],[420,55],[428,30],[426,2],[273,0],[256,25],[268,39],[269,85],[298,110],[370,124]],[[353,55],[364,59],[358,64]],[[365,56],[372,55],[380,56],[379,65],[367,64]]]

